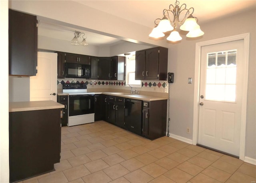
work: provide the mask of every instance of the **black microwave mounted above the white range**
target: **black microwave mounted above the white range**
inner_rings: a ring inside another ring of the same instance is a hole
[[[90,78],[90,65],[65,63],[66,78]]]

